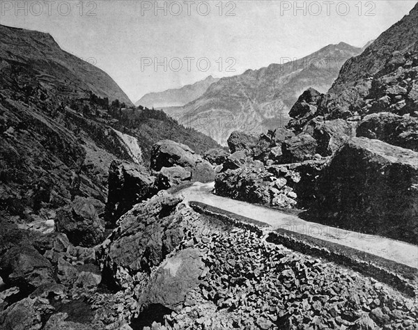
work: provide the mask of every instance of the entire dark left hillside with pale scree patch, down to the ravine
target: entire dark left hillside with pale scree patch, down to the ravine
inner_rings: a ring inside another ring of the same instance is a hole
[[[76,196],[104,202],[111,162],[146,165],[160,139],[217,146],[162,111],[126,108],[107,74],[49,35],[0,26],[0,36],[0,217],[45,223]]]

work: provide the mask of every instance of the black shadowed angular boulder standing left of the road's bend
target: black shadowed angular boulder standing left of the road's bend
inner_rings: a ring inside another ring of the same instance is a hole
[[[106,217],[115,223],[133,205],[157,193],[155,178],[138,164],[113,161],[109,168],[109,194]]]

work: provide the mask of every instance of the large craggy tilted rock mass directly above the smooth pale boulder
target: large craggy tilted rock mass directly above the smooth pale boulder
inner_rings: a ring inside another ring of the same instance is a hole
[[[104,273],[116,285],[131,283],[138,272],[160,265],[180,243],[183,226],[176,207],[181,201],[183,198],[160,191],[118,220],[118,228],[98,253]]]

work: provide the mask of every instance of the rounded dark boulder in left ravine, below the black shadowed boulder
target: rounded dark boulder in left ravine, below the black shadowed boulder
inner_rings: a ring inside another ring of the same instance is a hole
[[[55,228],[67,235],[72,244],[94,246],[104,239],[104,221],[99,214],[104,204],[94,198],[76,196],[70,205],[56,212]]]

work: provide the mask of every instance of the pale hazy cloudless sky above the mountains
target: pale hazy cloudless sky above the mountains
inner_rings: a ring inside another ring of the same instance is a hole
[[[331,43],[362,47],[415,3],[0,0],[0,23],[50,33],[136,102],[148,92],[300,58]]]

